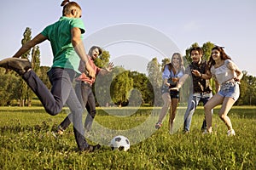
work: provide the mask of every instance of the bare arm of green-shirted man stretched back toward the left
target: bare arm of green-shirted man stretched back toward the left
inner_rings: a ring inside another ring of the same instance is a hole
[[[20,58],[21,55],[25,54],[30,48],[34,47],[38,43],[44,42],[47,37],[44,37],[41,33],[34,37],[31,41],[26,42],[13,56],[14,58]]]

